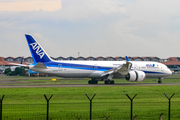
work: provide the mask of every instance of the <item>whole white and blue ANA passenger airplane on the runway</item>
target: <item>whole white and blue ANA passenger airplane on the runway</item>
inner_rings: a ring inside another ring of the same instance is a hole
[[[26,68],[64,78],[90,78],[89,84],[114,84],[113,78],[125,78],[129,82],[141,82],[145,78],[162,78],[172,74],[170,69],[152,61],[56,61],[45,52],[41,45],[29,34],[25,34],[34,64]]]

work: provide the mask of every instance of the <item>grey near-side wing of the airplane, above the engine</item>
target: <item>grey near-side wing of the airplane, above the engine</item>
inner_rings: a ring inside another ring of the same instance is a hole
[[[105,71],[104,74],[101,75],[101,77],[107,75],[113,75],[115,73],[120,73],[121,75],[127,75],[131,67],[132,67],[132,63],[126,61],[126,63],[121,66]]]

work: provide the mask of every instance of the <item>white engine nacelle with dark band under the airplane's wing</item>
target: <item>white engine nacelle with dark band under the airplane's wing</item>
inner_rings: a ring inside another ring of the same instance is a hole
[[[130,71],[125,78],[129,82],[141,82],[146,78],[146,74],[143,71]]]

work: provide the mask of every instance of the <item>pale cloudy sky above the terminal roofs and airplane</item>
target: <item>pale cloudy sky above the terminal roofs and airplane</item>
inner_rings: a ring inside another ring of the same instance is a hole
[[[180,57],[179,0],[0,0],[0,56]]]

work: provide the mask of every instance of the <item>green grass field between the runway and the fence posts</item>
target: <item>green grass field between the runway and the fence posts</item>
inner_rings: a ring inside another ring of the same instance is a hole
[[[180,83],[179,76],[163,79],[163,83]],[[14,78],[9,78],[14,79]],[[18,77],[23,80],[25,78]],[[26,78],[27,79],[27,78]],[[29,79],[31,84],[87,84],[88,80],[58,80],[52,78]],[[27,80],[28,81],[28,80]],[[33,83],[39,81],[43,83]],[[123,79],[116,83],[129,83]],[[146,79],[143,83],[157,83],[156,79]],[[103,84],[100,83],[100,84]],[[134,83],[136,84],[136,83]],[[50,100],[50,118],[52,120],[81,120],[89,118],[89,100],[93,99],[93,120],[129,120],[130,100],[137,94],[133,104],[133,114],[137,120],[155,120],[163,113],[163,120],[168,120],[168,99],[171,96],[171,119],[180,119],[180,86],[102,86],[102,87],[62,87],[62,88],[0,88],[3,99],[3,120],[43,120],[46,119],[46,100],[44,94],[53,97]]]

